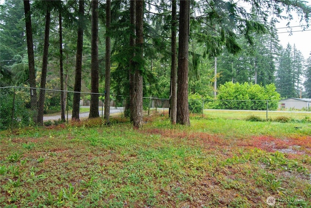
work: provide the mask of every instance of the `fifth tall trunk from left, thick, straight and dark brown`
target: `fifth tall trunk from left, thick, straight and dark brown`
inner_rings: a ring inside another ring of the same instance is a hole
[[[98,73],[98,0],[92,0],[92,29],[91,29],[91,101],[89,117],[99,117],[99,73]]]

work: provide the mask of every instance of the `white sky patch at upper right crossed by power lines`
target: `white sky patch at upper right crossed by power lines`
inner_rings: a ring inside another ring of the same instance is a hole
[[[306,0],[307,5],[311,6],[311,0]],[[295,15],[293,14],[293,17]],[[302,31],[303,28],[297,27],[301,25],[299,23],[298,18],[294,18],[290,22],[290,26],[292,27],[292,35],[288,32],[289,29],[286,28],[287,20],[280,21],[276,24],[276,28],[278,29],[278,39],[280,40],[280,44],[286,48],[287,44],[290,43],[292,48],[294,45],[296,46],[297,50],[301,51],[302,55],[305,59],[310,57],[311,53],[311,25],[309,28],[306,28],[305,31]],[[305,25],[305,24],[304,24]],[[294,32],[297,31],[297,32]]]

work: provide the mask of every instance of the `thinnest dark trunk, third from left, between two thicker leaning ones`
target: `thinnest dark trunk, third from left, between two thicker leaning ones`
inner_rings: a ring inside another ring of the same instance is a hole
[[[64,96],[64,68],[63,68],[63,31],[62,31],[62,1],[59,1],[59,75],[60,75],[60,109],[61,121],[65,119],[65,96]]]

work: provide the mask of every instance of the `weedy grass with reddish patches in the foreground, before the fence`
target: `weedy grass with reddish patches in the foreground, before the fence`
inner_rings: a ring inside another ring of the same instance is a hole
[[[0,207],[311,207],[310,122],[190,120],[2,131]]]

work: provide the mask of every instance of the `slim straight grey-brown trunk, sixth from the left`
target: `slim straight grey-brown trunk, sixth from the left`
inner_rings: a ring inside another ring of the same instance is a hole
[[[110,22],[111,0],[106,1],[106,65],[105,65],[105,113],[104,118],[109,123],[110,117]]]

